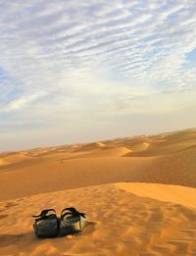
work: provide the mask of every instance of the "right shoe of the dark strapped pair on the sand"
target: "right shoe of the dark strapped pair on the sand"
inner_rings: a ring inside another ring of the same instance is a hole
[[[79,213],[75,208],[65,208],[60,218],[61,235],[73,234],[83,230],[87,225],[85,214]]]

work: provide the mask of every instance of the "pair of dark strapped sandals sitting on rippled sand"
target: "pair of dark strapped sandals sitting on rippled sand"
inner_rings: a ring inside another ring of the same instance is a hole
[[[78,212],[75,208],[65,208],[58,218],[54,209],[43,210],[39,215],[33,215],[33,228],[39,237],[54,237],[73,234],[83,230],[86,225],[85,214]]]

